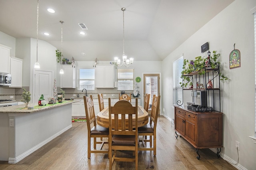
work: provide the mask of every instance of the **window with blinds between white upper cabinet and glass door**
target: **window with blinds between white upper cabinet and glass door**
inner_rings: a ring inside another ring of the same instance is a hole
[[[134,69],[117,69],[117,90],[133,90]]]

